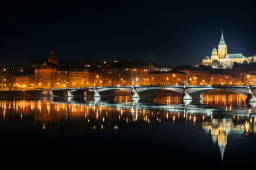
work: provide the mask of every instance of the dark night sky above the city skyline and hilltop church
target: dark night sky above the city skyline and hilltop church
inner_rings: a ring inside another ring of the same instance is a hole
[[[253,1],[1,1],[1,65],[60,60],[143,58],[168,65],[201,64],[218,45],[256,54]]]

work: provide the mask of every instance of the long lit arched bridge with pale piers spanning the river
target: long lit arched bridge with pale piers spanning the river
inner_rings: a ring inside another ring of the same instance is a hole
[[[114,97],[114,91],[130,92],[131,98],[154,97],[157,90],[171,90],[182,94],[183,100],[203,99],[204,92],[212,90],[227,90],[247,96],[246,101],[256,101],[256,86],[106,86],[106,87],[81,87],[81,88],[55,88],[52,94],[56,96],[86,96],[90,91],[93,97]]]

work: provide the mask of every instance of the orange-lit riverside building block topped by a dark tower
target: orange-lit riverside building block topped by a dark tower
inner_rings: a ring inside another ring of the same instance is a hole
[[[52,49],[48,61],[35,69],[35,88],[85,87],[89,84],[88,78],[88,69],[69,62],[59,62]]]

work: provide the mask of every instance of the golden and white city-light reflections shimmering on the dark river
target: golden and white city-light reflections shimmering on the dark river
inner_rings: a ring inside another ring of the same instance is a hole
[[[89,97],[2,100],[0,122],[20,122],[52,138],[66,128],[104,132],[170,123],[200,126],[218,146],[223,160],[229,135],[255,134],[255,109],[245,100],[242,95],[205,95],[203,101],[191,103],[181,101],[180,95],[147,100],[118,96],[97,102]]]

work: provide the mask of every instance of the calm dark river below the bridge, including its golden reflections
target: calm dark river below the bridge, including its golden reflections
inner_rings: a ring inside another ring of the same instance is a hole
[[[3,98],[1,155],[103,168],[255,165],[255,104],[235,94],[203,97]]]

